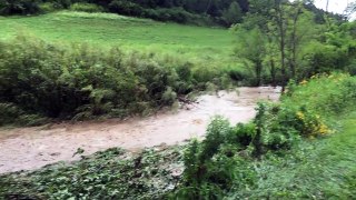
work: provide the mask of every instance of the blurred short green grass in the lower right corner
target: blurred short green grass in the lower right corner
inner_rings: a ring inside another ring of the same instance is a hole
[[[258,184],[237,188],[228,199],[354,199],[355,117],[338,116],[338,133],[255,161]]]

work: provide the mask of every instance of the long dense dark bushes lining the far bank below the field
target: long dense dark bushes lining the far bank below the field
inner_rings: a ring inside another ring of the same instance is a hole
[[[59,46],[18,37],[0,42],[0,102],[9,112],[57,119],[147,113],[178,94],[205,89],[192,63],[87,44]],[[217,86],[220,73],[211,73]],[[222,86],[222,84],[221,84]],[[4,109],[6,109],[4,108]],[[9,114],[4,122],[10,122]],[[2,116],[3,118],[3,116]]]

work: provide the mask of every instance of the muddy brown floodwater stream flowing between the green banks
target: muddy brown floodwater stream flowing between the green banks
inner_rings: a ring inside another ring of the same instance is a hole
[[[175,144],[201,137],[211,117],[224,116],[231,123],[247,122],[255,116],[260,99],[278,100],[279,88],[239,88],[239,92],[220,91],[201,96],[198,103],[177,113],[164,113],[127,121],[60,123],[51,127],[0,130],[0,173],[32,170],[58,161],[79,159],[78,148],[91,154],[111,147],[140,149]]]

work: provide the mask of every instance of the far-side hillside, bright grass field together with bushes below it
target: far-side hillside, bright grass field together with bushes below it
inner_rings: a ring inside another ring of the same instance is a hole
[[[0,101],[4,102],[0,104],[0,110],[8,113],[0,117],[0,124],[13,122],[14,118],[8,117],[23,116],[23,112],[61,119],[73,119],[82,114],[89,117],[93,113],[102,116],[113,110],[116,114],[110,117],[149,113],[151,108],[160,108],[162,102],[170,106],[177,94],[187,94],[194,90],[214,90],[216,86],[227,88],[231,82],[230,77],[240,77],[238,70],[241,64],[230,56],[234,34],[227,29],[162,23],[110,13],[69,11],[0,18],[0,46],[3,47],[0,48],[0,63],[3,63],[0,64],[3,69],[0,70],[0,78],[10,78],[0,83]],[[28,71],[29,69],[32,70]],[[20,76],[22,72],[24,76]],[[135,78],[123,79],[128,74]],[[86,76],[90,78],[87,79]],[[93,82],[92,76],[97,76]],[[38,80],[48,89],[38,87]],[[110,81],[112,82],[109,83]],[[21,83],[14,87],[10,82]],[[157,86],[158,82],[162,84]],[[170,87],[171,84],[175,86]],[[119,86],[122,88],[119,89]],[[127,92],[128,90],[131,91]],[[86,97],[72,98],[75,94],[63,94],[67,91],[80,91]],[[12,98],[22,92],[26,94],[21,98]],[[146,97],[151,94],[165,94],[165,100],[155,99],[148,103]],[[127,97],[134,98],[121,101]],[[167,101],[167,98],[170,100]],[[33,99],[37,99],[36,103]],[[53,106],[53,102],[58,101],[60,103]],[[67,103],[69,101],[71,102]],[[66,106],[62,104],[65,102]],[[92,102],[102,107],[89,106]],[[130,106],[132,102],[140,106]],[[44,104],[49,107],[39,109]],[[13,109],[13,106],[17,108]],[[117,106],[120,107],[119,110]],[[69,113],[62,111],[72,107]],[[52,108],[57,111],[49,111]],[[88,109],[91,110],[90,113],[87,112]]]

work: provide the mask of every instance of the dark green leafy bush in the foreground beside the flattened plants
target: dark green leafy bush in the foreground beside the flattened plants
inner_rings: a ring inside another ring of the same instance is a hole
[[[231,128],[221,117],[208,126],[202,142],[194,140],[184,156],[184,186],[175,196],[184,199],[221,199],[235,182],[250,180],[254,173],[247,161],[238,156],[250,126]],[[244,171],[244,172],[243,172]]]

